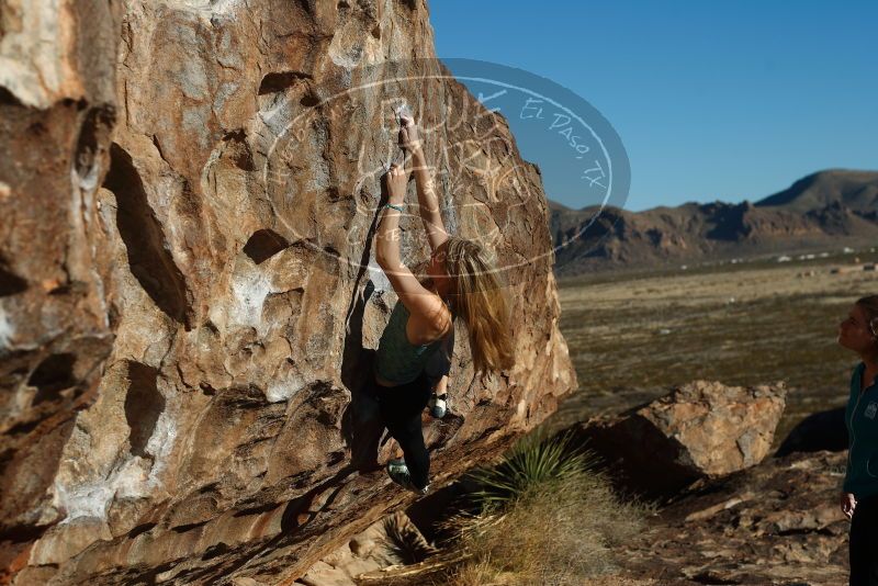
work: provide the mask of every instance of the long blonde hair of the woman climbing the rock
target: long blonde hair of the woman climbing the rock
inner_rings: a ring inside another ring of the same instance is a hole
[[[448,301],[466,324],[476,374],[511,369],[510,306],[493,258],[481,245],[457,236],[449,236],[443,247]]]

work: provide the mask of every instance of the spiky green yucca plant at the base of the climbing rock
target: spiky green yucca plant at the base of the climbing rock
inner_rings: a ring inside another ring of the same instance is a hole
[[[538,429],[520,438],[496,465],[477,467],[470,477],[480,486],[472,498],[483,511],[510,505],[547,483],[594,472],[598,462],[590,450],[572,444],[572,433],[553,438]]]

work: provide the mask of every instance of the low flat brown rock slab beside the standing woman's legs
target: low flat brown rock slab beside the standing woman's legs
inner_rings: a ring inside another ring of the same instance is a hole
[[[668,584],[847,584],[845,460],[792,453],[699,482],[617,559],[632,577]]]

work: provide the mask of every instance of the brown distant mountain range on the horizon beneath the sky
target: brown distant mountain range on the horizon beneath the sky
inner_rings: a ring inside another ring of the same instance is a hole
[[[628,212],[549,201],[559,277],[878,243],[878,172],[810,174],[756,203]]]

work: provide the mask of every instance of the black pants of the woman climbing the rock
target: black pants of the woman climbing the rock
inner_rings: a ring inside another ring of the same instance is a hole
[[[379,403],[384,427],[403,449],[412,484],[424,488],[429,482],[430,454],[424,443],[420,415],[430,401],[430,383],[424,371],[410,383],[382,386],[370,373],[369,387]]]

